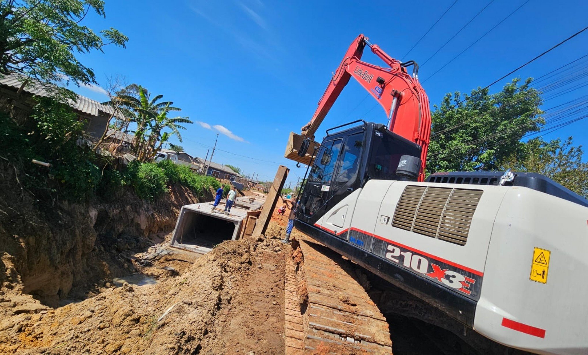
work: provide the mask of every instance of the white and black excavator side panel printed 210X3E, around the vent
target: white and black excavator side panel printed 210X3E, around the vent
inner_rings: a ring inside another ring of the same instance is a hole
[[[345,227],[335,229],[339,232],[335,232],[331,224],[325,226],[323,222],[321,225],[320,221],[313,225],[322,229],[320,233],[308,226],[297,224],[297,227],[472,326],[472,311],[482,287],[492,223],[506,190],[496,186],[475,187],[484,190],[484,195],[477,207],[470,237],[462,246],[392,226],[396,204],[408,185],[449,190],[455,187],[450,184],[370,180],[359,197],[354,192],[353,196],[346,197],[326,213],[326,216],[337,216],[342,206],[355,203],[350,223],[348,215]],[[344,240],[332,240],[335,235]],[[464,299],[470,302],[464,302]]]

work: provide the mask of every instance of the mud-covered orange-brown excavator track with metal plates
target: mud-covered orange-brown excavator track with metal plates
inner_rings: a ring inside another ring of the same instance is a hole
[[[392,354],[386,318],[356,267],[303,237],[286,253],[286,354]]]

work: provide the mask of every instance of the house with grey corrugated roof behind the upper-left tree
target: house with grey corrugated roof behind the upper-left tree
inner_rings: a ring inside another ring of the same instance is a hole
[[[51,89],[35,79],[29,78],[28,83],[24,83],[25,76],[18,74],[0,78],[0,105],[12,106],[12,115],[16,120],[24,120],[31,115],[35,106],[33,96],[52,96]],[[93,138],[100,138],[111,118],[111,106],[81,95],[77,95],[76,101],[68,100],[68,104],[78,114],[79,120],[85,121],[85,132]]]

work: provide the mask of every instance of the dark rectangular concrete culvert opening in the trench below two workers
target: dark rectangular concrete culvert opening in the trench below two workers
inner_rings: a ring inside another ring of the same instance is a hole
[[[227,216],[222,212],[211,212],[210,209],[208,204],[183,206],[171,245],[208,253],[212,247],[225,240],[237,239],[243,217]]]

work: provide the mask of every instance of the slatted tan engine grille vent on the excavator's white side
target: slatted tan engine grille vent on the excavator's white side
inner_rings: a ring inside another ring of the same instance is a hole
[[[392,226],[465,245],[483,190],[406,186]]]

